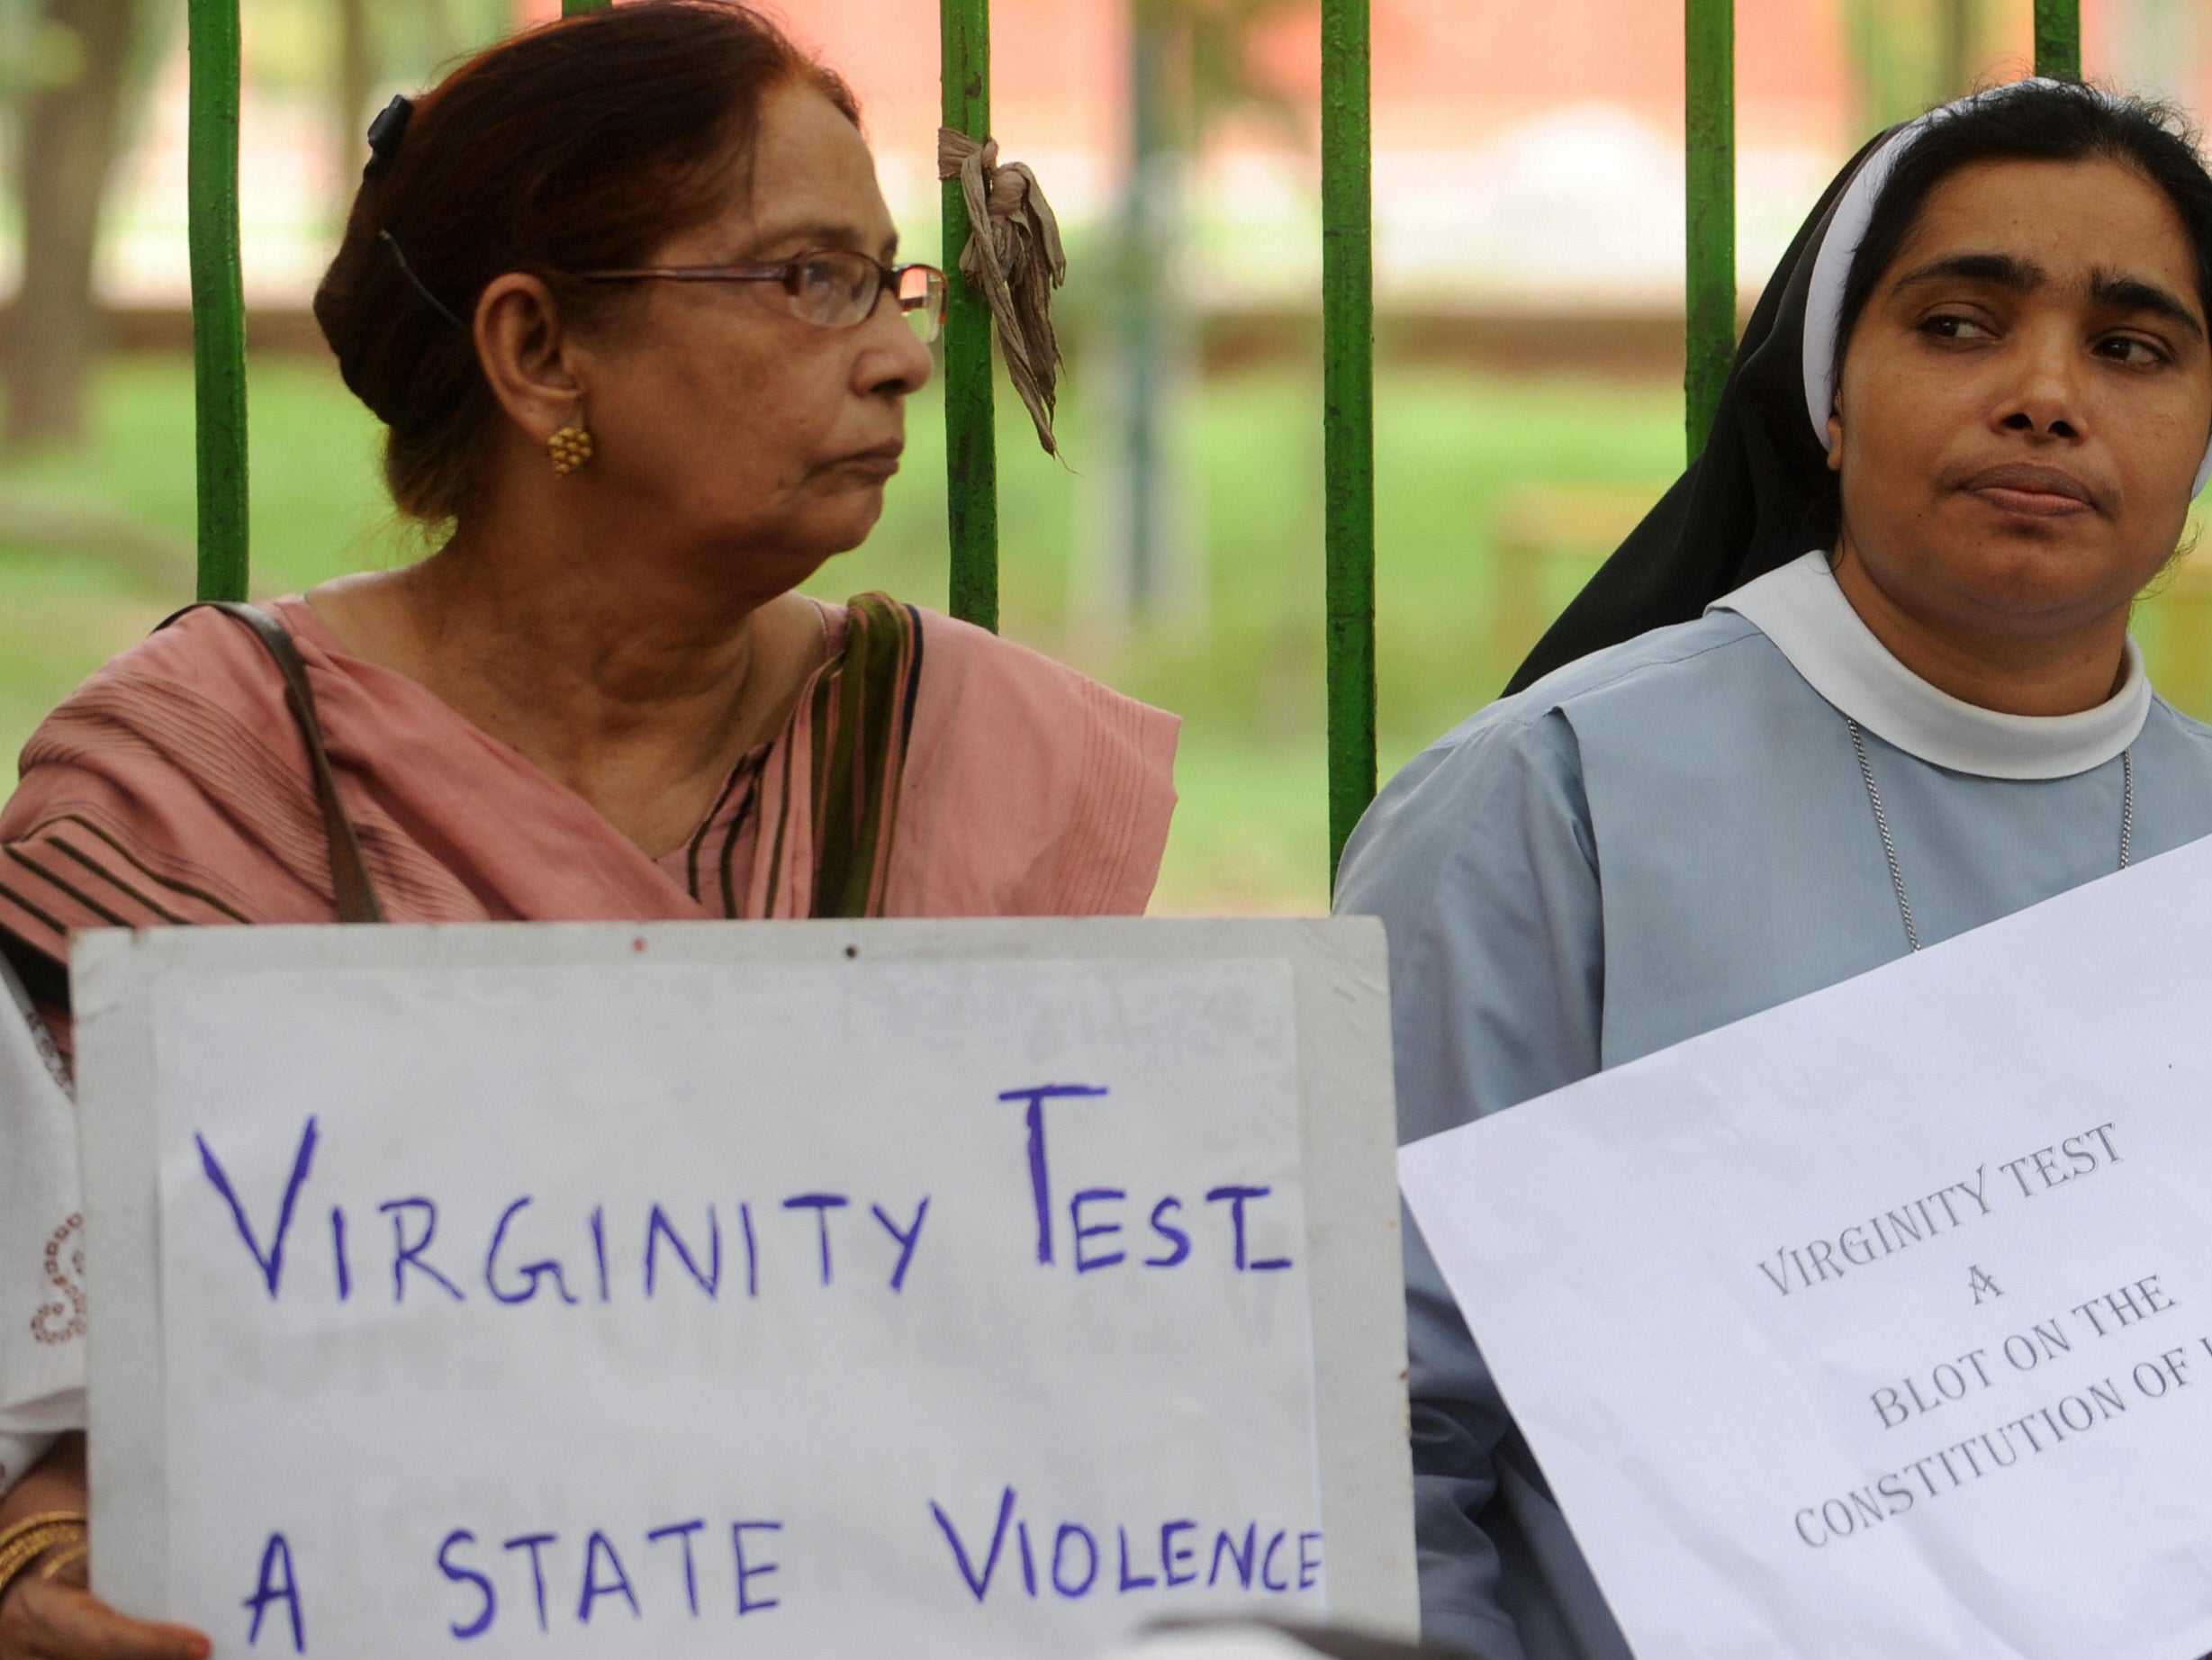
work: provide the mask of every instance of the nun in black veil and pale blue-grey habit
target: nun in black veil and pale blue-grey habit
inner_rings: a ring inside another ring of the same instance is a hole
[[[1854,159],[1703,455],[1345,851],[1402,1138],[2212,833],[2212,729],[2128,637],[2212,469],[2208,314],[2166,108],[2022,82]],[[1621,1660],[1411,1227],[1407,1317],[1425,1633]]]

